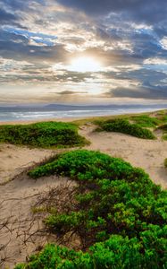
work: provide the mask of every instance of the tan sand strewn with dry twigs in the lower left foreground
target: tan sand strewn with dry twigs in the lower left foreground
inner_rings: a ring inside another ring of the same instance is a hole
[[[33,236],[42,230],[43,222],[38,216],[34,217],[32,205],[52,187],[64,186],[67,182],[67,178],[29,180],[22,175],[1,187],[0,268],[12,269],[46,244],[47,237],[43,233]]]

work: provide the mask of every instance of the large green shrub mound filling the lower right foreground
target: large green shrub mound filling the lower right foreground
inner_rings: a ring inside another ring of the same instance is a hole
[[[167,193],[142,169],[101,152],[65,152],[29,172],[79,182],[70,210],[48,213],[46,227],[75,233],[82,251],[47,245],[15,269],[167,268]]]

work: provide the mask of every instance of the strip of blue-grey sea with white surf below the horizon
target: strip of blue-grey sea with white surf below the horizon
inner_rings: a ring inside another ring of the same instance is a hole
[[[167,108],[161,105],[106,105],[106,106],[74,106],[64,104],[48,104],[37,106],[0,106],[0,122],[36,121],[56,118],[99,117],[140,112],[150,112]]]

